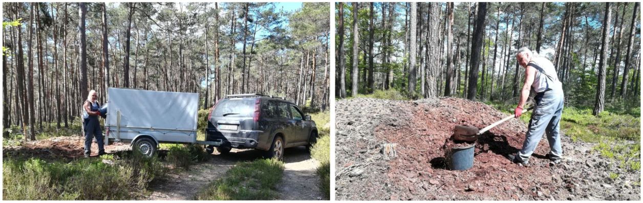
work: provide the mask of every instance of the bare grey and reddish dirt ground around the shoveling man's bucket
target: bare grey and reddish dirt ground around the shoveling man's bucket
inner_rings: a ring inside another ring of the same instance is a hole
[[[640,172],[621,170],[592,143],[562,136],[563,163],[550,167],[545,137],[531,167],[512,164],[506,156],[518,152],[527,128],[518,119],[479,137],[472,168],[446,169],[443,146],[455,125],[484,128],[505,116],[458,98],[340,100],[336,200],[640,200]]]

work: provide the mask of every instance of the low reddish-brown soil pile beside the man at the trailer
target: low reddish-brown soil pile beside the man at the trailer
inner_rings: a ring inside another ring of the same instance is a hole
[[[27,141],[20,146],[3,148],[3,158],[6,157],[39,157],[41,159],[77,159],[83,157],[85,137],[52,137],[49,139]],[[105,145],[105,152],[129,150],[128,143],[110,143]],[[91,156],[98,155],[98,144],[91,144]]]

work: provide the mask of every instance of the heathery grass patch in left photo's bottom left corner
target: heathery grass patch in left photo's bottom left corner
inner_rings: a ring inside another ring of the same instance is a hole
[[[3,160],[4,200],[129,200],[167,170],[157,157],[132,154],[125,159],[78,159],[70,163],[41,159]]]

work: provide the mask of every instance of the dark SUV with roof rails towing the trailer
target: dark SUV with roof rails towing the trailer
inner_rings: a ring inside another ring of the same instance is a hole
[[[284,148],[310,146],[317,140],[317,127],[294,103],[263,94],[234,94],[217,101],[206,128],[206,151],[221,154],[231,148],[255,148],[266,157],[281,159]]]

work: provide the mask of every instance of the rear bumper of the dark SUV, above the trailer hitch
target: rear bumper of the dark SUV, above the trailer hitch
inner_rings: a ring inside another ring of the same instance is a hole
[[[260,138],[262,137],[261,135],[263,134],[263,131],[226,131],[228,130],[206,129],[206,141],[215,141],[217,143],[220,143],[219,145],[214,146],[228,146],[231,148],[256,148],[260,150],[268,150],[267,148],[265,148],[265,145],[260,144],[262,142]]]

